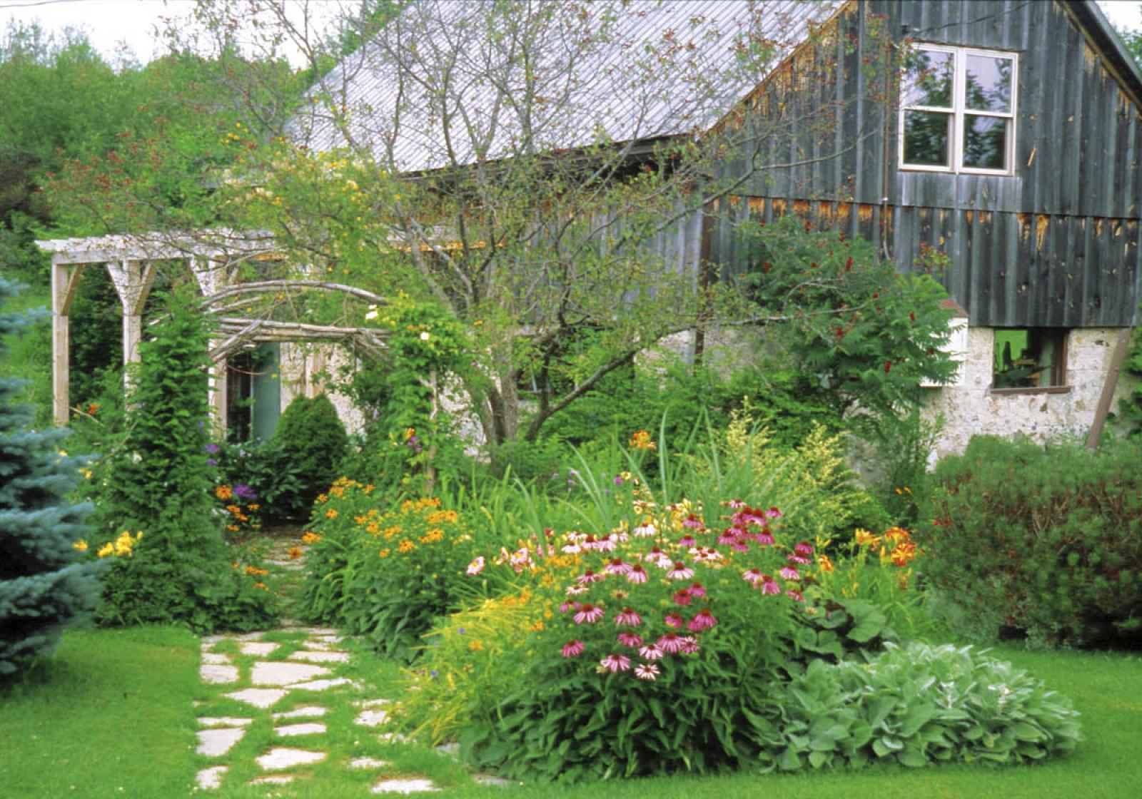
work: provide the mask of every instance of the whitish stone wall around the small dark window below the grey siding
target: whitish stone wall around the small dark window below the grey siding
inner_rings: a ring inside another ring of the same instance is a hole
[[[928,389],[925,411],[942,414],[944,422],[936,443],[936,455],[963,452],[976,434],[1011,436],[1018,433],[1045,441],[1059,437],[1085,437],[1094,421],[1102,385],[1115,352],[1117,328],[1077,328],[1067,337],[1067,372],[1070,390],[1062,394],[1034,392],[996,394],[991,392],[991,328],[968,328],[967,358],[963,385]],[[1111,410],[1128,387],[1119,380]]]

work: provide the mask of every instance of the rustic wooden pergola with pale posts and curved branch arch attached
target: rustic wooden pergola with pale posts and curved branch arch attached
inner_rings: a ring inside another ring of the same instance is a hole
[[[105,267],[119,294],[124,365],[138,361],[143,307],[160,263],[182,263],[190,269],[203,297],[203,313],[209,314],[212,322],[210,405],[220,426],[225,426],[226,420],[226,356],[248,345],[300,341],[348,344],[367,357],[384,360],[385,356],[385,344],[378,330],[274,318],[275,309],[292,307],[290,300],[298,292],[338,292],[371,305],[381,305],[385,300],[362,289],[324,281],[242,282],[244,267],[281,260],[273,240],[265,234],[211,231],[194,236],[171,236],[152,233],[57,239],[38,241],[37,244],[51,253],[53,414],[55,423],[61,427],[67,425],[71,414],[69,315],[79,281],[90,266]],[[265,307],[267,300],[271,306],[268,313]],[[252,317],[244,313],[254,307],[262,313]]]

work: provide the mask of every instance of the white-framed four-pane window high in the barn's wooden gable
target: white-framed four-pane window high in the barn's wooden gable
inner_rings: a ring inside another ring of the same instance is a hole
[[[900,168],[1013,175],[1019,56],[914,45],[900,81]]]

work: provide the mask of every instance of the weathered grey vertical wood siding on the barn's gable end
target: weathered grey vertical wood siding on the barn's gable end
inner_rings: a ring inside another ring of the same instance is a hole
[[[1013,176],[899,169],[899,99],[876,29],[898,45],[1019,54]],[[773,167],[740,193],[757,197],[745,204],[758,216],[788,208],[883,243],[903,271],[922,243],[941,250],[952,264],[943,282],[973,324],[1131,324],[1142,116],[1108,66],[1057,0],[853,2],[755,98],[743,153]],[[723,215],[710,250],[727,274],[741,268],[731,228],[743,212]]]

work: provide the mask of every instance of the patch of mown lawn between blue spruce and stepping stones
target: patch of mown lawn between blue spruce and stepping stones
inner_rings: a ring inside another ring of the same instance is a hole
[[[182,797],[194,780],[198,639],[73,630],[0,692],[0,797]]]

